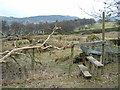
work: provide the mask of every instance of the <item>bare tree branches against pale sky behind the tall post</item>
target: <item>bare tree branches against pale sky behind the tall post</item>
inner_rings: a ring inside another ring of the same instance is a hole
[[[97,11],[95,10],[96,7],[93,7],[93,10],[91,13],[88,13],[83,8],[79,6],[79,9],[86,13],[87,15],[101,19],[102,18],[102,12],[105,12],[106,14],[106,20],[114,19],[114,20],[120,20],[120,1],[119,0],[95,0],[95,2],[100,2],[103,4],[103,8],[99,8]]]

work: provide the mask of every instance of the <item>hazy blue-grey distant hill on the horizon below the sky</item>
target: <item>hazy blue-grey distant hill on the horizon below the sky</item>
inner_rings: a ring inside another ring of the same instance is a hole
[[[63,15],[48,15],[48,16],[32,16],[25,18],[16,18],[16,17],[4,17],[0,16],[0,20],[6,20],[9,24],[16,21],[19,23],[27,24],[27,23],[52,23],[56,20],[58,21],[66,21],[66,20],[75,20],[79,19],[78,17],[73,16],[63,16]]]

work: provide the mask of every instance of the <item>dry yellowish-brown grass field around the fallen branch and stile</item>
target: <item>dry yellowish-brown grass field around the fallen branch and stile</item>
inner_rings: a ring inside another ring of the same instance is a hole
[[[101,38],[102,34],[94,34]],[[106,40],[108,38],[117,38],[118,32],[105,33]],[[89,34],[72,34],[72,35],[52,35],[46,42],[47,45],[63,47],[71,43],[86,42]],[[33,35],[29,39],[34,38],[35,45],[41,45],[47,38],[47,35]],[[3,43],[3,51],[14,49],[14,47],[32,46],[28,39],[16,41],[7,41]],[[71,58],[71,48],[62,50],[50,49],[41,51],[38,49],[30,49],[20,51],[25,55],[18,55],[13,58],[9,57],[7,63],[3,64],[3,88],[117,88],[118,84],[118,59],[115,59],[104,66],[104,73],[93,76],[91,79],[85,79],[78,68],[79,64],[72,64],[69,73],[69,65],[76,55],[82,53],[80,46],[74,48],[74,56]],[[31,61],[34,53],[34,70],[31,69]],[[70,57],[68,59],[61,57]],[[15,58],[15,59],[14,59]],[[57,60],[58,61],[55,61]],[[112,58],[113,59],[113,58]],[[88,66],[88,62],[87,62]],[[16,68],[16,69],[14,69]]]

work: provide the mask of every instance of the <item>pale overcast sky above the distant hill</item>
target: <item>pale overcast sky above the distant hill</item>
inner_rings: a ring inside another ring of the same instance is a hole
[[[70,15],[91,18],[79,9],[91,13],[103,5],[100,0],[0,0],[0,16],[29,17],[38,15]]]

